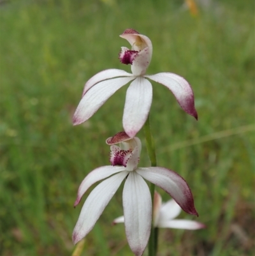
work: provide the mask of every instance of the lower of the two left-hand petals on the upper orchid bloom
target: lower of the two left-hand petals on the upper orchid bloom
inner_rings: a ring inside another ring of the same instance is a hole
[[[115,91],[128,84],[134,77],[120,77],[104,80],[93,86],[84,95],[73,116],[73,124],[81,124],[87,121],[101,107]]]

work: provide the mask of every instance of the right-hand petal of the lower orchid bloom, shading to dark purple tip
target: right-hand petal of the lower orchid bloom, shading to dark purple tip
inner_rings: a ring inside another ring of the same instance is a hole
[[[191,190],[179,174],[162,167],[138,168],[136,172],[169,193],[186,213],[198,216]]]

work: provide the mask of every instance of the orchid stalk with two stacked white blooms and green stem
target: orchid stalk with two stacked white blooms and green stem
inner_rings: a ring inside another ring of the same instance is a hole
[[[154,256],[156,255],[154,227],[152,225],[151,232],[150,227],[148,227],[148,223],[149,226],[152,223],[154,184],[157,184],[157,186],[160,186],[168,192],[184,211],[193,215],[197,215],[197,213],[194,208],[192,193],[186,181],[175,172],[156,167],[156,153],[149,124],[149,112],[152,103],[152,84],[148,79],[159,82],[159,84],[163,84],[163,86],[170,89],[180,107],[186,111],[187,114],[194,116],[196,119],[198,119],[198,115],[194,107],[193,91],[184,78],[174,73],[146,75],[147,68],[152,58],[152,43],[150,39],[143,34],[139,34],[134,29],[126,29],[120,37],[128,40],[131,44],[131,50],[127,47],[121,47],[119,59],[123,64],[131,64],[132,73],[128,73],[124,70],[109,69],[99,72],[89,79],[85,84],[82,100],[80,100],[73,116],[73,124],[77,125],[87,121],[115,91],[131,82],[126,93],[126,102],[122,118],[124,132],[117,133],[117,135],[107,140],[107,143],[110,145],[120,143],[122,146],[111,146],[111,163],[114,167],[100,167],[85,177],[79,188],[75,205],[80,202],[82,195],[89,186],[112,174],[119,173],[100,183],[91,192],[82,208],[82,213],[75,227],[73,241],[77,243],[82,237],[87,235],[96,220],[98,220],[103,209],[105,209],[108,201],[116,192],[120,183],[127,177],[123,193],[123,206],[129,246],[135,255],[142,255],[150,236],[149,255]],[[144,127],[145,130],[147,151],[152,163],[152,167],[147,167],[146,169],[137,167],[141,142],[135,135],[142,127]],[[150,192],[143,178],[150,181]],[[139,198],[138,194],[133,193],[131,195],[132,200],[128,199],[128,192],[125,191],[133,189],[140,191],[143,195],[142,198]],[[106,190],[109,190],[110,196],[106,196],[106,198],[100,202],[100,205],[98,205],[95,202],[99,200],[99,193],[100,196],[103,196],[100,190],[102,190],[105,195],[108,193]],[[132,202],[135,202],[136,205],[132,206],[134,211],[130,213],[128,207]],[[131,219],[136,221],[133,222]],[[146,220],[146,223],[144,223],[144,220]],[[137,226],[140,227],[141,230],[136,230]]]

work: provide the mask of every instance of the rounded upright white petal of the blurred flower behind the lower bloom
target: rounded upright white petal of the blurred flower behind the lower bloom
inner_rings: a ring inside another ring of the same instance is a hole
[[[176,218],[182,208],[175,202],[175,200],[171,199],[168,202],[162,204],[161,209],[159,211],[159,218],[161,220],[172,220]]]

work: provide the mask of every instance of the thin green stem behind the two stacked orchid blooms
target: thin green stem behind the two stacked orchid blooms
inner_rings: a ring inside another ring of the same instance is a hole
[[[152,167],[157,166],[157,160],[156,160],[156,151],[155,151],[155,145],[154,140],[152,138],[152,134],[150,132],[150,117],[148,116],[147,121],[145,122],[143,126],[143,130],[145,133],[145,139],[146,139],[146,146],[147,151],[149,154],[150,162]],[[150,184],[150,195],[152,197],[152,209],[154,205],[154,191],[155,191],[155,184]],[[152,226],[150,230],[150,239],[149,239],[149,256],[156,256],[157,253],[157,230],[154,228],[154,220],[152,215]]]

